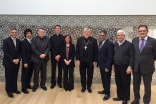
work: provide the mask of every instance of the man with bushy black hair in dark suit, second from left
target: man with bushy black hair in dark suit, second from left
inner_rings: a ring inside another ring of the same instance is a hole
[[[31,49],[31,38],[32,38],[32,30],[26,29],[24,31],[24,37],[25,39],[22,41],[22,92],[25,94],[28,94],[28,90],[32,89],[30,82],[31,77],[33,73],[33,63],[31,62],[31,55],[32,55],[32,49]]]

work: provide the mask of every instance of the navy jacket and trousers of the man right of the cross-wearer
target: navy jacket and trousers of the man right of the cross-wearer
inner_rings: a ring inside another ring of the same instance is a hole
[[[98,66],[100,68],[102,84],[106,95],[110,95],[110,79],[114,56],[113,50],[114,47],[112,42],[106,39],[98,51]],[[108,69],[109,72],[105,72],[105,68]]]

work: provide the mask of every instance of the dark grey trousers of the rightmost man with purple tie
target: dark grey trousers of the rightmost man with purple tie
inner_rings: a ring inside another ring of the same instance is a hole
[[[149,69],[150,70],[150,69]],[[144,97],[143,102],[144,104],[149,104],[151,100],[151,82],[152,82],[152,75],[151,74],[142,74],[140,72],[140,68],[137,72],[133,71],[133,91],[134,97],[136,100],[140,100],[140,83],[141,83],[141,76],[144,82]]]

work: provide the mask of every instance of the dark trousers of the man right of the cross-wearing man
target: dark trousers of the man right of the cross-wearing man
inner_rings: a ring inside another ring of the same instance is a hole
[[[111,71],[105,72],[105,69],[100,69],[102,85],[106,95],[110,95],[110,80],[111,80]]]

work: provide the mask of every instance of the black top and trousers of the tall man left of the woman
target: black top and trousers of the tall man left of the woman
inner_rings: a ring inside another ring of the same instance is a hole
[[[58,36],[54,34],[50,37],[50,45],[51,45],[51,65],[52,65],[52,71],[51,71],[51,84],[56,84],[56,65],[58,63],[58,79],[57,83],[62,83],[62,63],[61,59],[57,62],[55,57],[57,55],[61,55],[61,47],[64,43],[64,36],[59,34]]]

